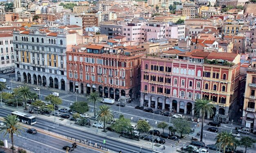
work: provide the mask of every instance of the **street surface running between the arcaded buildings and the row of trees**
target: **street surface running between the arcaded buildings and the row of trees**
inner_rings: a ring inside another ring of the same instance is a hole
[[[0,74],[0,77],[6,78],[7,79],[7,84],[11,87],[11,83],[9,81],[9,76],[8,75],[9,74]],[[14,77],[14,74],[12,74],[12,76]],[[22,84],[12,83],[12,85],[13,85],[13,88],[15,88],[17,85],[22,85]],[[34,86],[34,87],[36,87],[36,86]],[[31,90],[33,89],[32,86],[30,86],[30,88],[31,88]],[[10,90],[8,90],[8,91],[10,92]],[[77,101],[86,101],[85,97],[82,97],[82,96],[77,96],[76,97],[76,94],[73,94],[73,93],[69,94],[68,92],[59,91],[59,90],[49,90],[49,89],[41,88],[40,94],[44,97],[44,96],[49,95],[53,91],[59,92],[59,96],[62,99],[62,105],[60,105],[59,107],[69,107],[72,103],[74,103],[76,101],[76,98],[77,98]],[[39,94],[38,91],[34,91],[34,92],[37,92]],[[169,117],[161,116],[161,115],[158,115],[158,114],[155,114],[154,117],[153,117],[152,113],[148,113],[148,112],[144,112],[144,111],[139,110],[139,109],[135,109],[134,107],[138,104],[139,104],[139,101],[134,101],[132,103],[127,104],[125,107],[118,107],[116,105],[109,105],[109,106],[111,107],[111,110],[114,112],[115,118],[119,117],[119,109],[120,109],[120,113],[123,114],[126,118],[133,118],[132,122],[137,122],[140,118],[143,117],[143,118],[146,118],[147,120],[149,120],[149,123],[151,124],[152,127],[153,127],[153,124],[154,124],[155,121],[157,121],[157,122],[164,121],[164,122],[170,123],[170,125],[172,126],[172,122],[173,122],[173,120],[175,120],[174,118],[169,118]],[[102,103],[98,103],[98,105],[102,105]],[[91,106],[90,111],[93,111],[93,106],[92,105],[90,105],[90,106]],[[153,118],[154,118],[154,120],[153,120]],[[205,122],[206,122],[206,124],[204,125],[204,135],[206,133],[206,137],[205,136],[203,137],[203,142],[206,142],[206,144],[214,144],[215,143],[214,139],[215,139],[217,133],[207,131],[207,128],[210,127],[209,125],[207,125],[209,120],[205,120]],[[194,128],[195,125],[197,125],[197,123],[191,122],[191,128],[192,129]],[[233,128],[232,128],[233,132],[235,131],[235,127],[241,127],[241,125],[237,125],[237,124],[234,123]],[[218,129],[219,129],[219,131],[221,131],[221,129],[223,131],[231,131],[231,122],[229,122],[229,124],[222,124],[221,127],[218,127]],[[195,133],[192,134],[196,138],[198,138],[196,136],[197,132],[200,132],[200,126],[195,127]],[[241,136],[247,136],[247,135],[241,134]],[[248,136],[256,139],[256,136],[253,135],[252,133],[249,134]],[[191,136],[187,136],[186,139],[187,140],[184,142],[184,144],[189,144],[189,142],[191,140]]]

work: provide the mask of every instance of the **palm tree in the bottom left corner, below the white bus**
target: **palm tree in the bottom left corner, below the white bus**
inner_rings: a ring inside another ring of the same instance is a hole
[[[20,134],[20,130],[23,130],[22,126],[17,120],[16,115],[7,115],[7,117],[4,117],[4,124],[6,126],[0,129],[0,133],[4,132],[4,137],[7,135],[7,133],[9,133],[9,138],[11,138],[12,152],[14,152],[13,134],[16,134],[18,136]]]

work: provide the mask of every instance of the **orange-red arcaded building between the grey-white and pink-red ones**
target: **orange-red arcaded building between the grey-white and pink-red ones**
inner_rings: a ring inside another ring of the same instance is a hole
[[[111,42],[73,46],[67,52],[68,90],[81,94],[96,91],[115,100],[138,97],[143,55],[143,48],[115,48]]]

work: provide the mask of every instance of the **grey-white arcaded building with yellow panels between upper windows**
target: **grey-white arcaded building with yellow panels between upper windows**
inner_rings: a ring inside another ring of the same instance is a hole
[[[16,29],[16,81],[67,90],[66,50],[81,41],[80,35],[58,28]]]

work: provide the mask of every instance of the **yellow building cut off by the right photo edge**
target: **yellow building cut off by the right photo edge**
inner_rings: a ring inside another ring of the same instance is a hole
[[[256,61],[246,69],[245,101],[243,106],[242,125],[249,128],[256,128]]]

